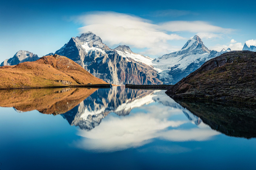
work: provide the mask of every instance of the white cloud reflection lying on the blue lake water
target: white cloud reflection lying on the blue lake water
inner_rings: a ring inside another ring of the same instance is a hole
[[[154,138],[169,141],[203,141],[219,134],[203,123],[190,129],[179,128],[190,123],[188,119],[184,119],[182,109],[161,104],[144,105],[141,109],[145,112],[137,111],[125,117],[108,115],[108,119],[102,120],[100,126],[91,131],[79,130],[79,135],[83,138],[73,144],[86,150],[112,152],[139,147]],[[181,115],[180,120],[170,119],[175,115]]]

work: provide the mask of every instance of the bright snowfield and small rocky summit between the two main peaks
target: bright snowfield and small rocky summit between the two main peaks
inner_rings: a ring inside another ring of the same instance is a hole
[[[119,45],[118,47],[114,48],[114,50],[117,51],[117,53],[123,57],[132,58],[135,61],[142,62],[144,64],[147,64],[149,66],[153,65],[152,61],[153,58],[150,58],[149,56],[144,56],[141,54],[137,54],[132,52],[129,46],[126,45]]]

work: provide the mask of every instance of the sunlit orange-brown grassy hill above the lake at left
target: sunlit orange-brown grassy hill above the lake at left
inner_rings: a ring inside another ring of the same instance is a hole
[[[41,57],[33,62],[0,67],[0,89],[39,88],[64,84],[107,84],[79,64],[60,55]]]

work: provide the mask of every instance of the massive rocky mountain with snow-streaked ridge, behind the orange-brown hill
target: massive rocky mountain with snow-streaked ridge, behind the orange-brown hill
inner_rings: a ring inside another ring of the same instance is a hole
[[[133,53],[128,48],[119,46],[116,50],[110,49],[100,37],[88,32],[80,37],[72,37],[55,53],[72,59],[92,75],[108,83],[162,84],[157,78],[157,71],[147,62],[144,63],[152,59]]]

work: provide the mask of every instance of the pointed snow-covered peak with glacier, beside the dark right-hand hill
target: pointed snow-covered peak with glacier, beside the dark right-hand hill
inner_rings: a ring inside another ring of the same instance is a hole
[[[220,52],[211,51],[203,44],[199,36],[195,35],[181,50],[156,58],[152,64],[164,84],[175,84],[200,68],[206,61],[229,51],[231,51],[230,48],[222,49]]]

